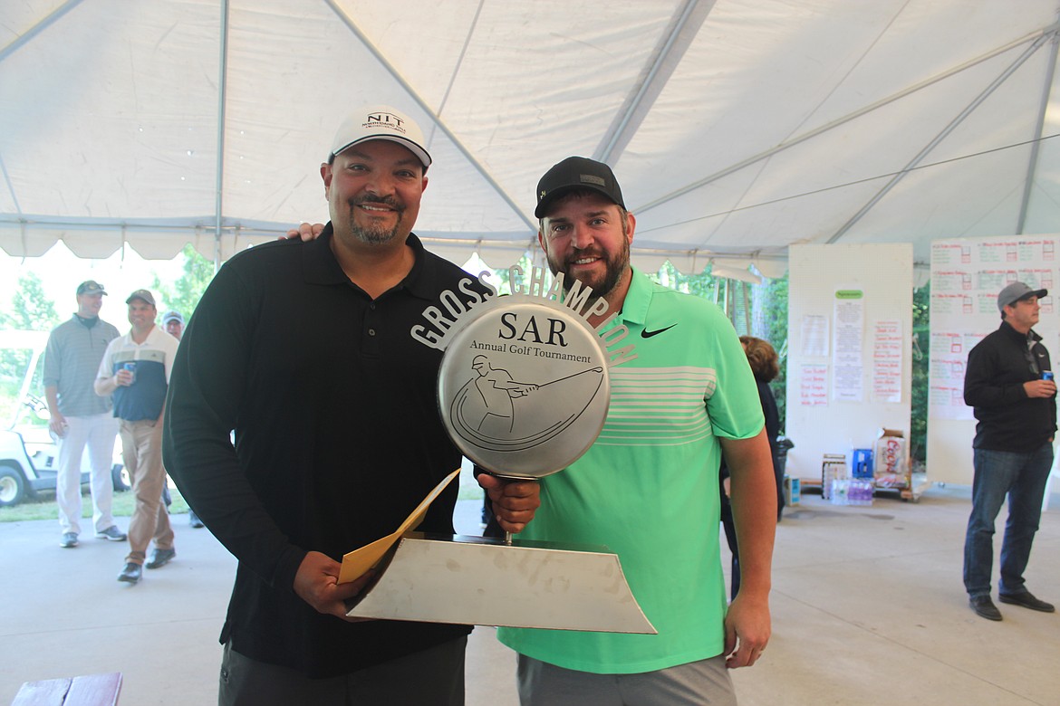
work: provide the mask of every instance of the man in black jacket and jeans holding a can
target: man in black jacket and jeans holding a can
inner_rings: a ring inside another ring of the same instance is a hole
[[[1052,613],[1024,585],[1023,572],[1042,514],[1045,482],[1053,467],[1056,394],[1049,354],[1031,326],[1038,323],[1044,289],[1022,282],[997,295],[1002,323],[968,356],[965,403],[975,408],[972,513],[965,537],[965,589],[972,610],[1001,620],[990,600],[994,520],[1008,496],[1008,522],[1001,549],[1003,603]]]

